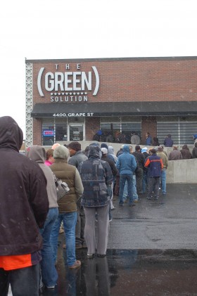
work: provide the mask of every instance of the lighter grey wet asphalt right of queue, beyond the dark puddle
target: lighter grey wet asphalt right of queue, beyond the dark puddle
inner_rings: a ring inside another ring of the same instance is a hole
[[[109,249],[197,249],[197,184],[167,184],[167,195],[135,207],[113,202]]]

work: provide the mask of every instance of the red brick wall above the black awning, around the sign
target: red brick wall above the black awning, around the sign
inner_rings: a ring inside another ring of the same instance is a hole
[[[100,77],[98,94],[92,96],[88,91],[88,101],[126,102],[126,101],[196,101],[197,92],[197,58],[196,60],[111,60],[84,61],[69,63],[70,71],[77,71],[80,63],[81,71],[92,71],[96,66]],[[55,65],[58,64],[58,70]],[[37,90],[37,75],[41,67],[46,72],[66,72],[68,61],[33,64],[33,96],[34,103],[50,103],[50,92],[44,97]],[[93,72],[93,71],[92,71]],[[44,76],[44,75],[43,75]],[[94,74],[92,74],[94,80]],[[44,81],[42,81],[44,90]],[[94,89],[94,83],[93,87]],[[67,103],[67,102],[65,102]]]

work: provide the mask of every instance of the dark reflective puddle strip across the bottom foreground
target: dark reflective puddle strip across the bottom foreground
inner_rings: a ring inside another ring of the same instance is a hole
[[[197,295],[196,250],[108,250],[107,257],[87,259],[70,270],[65,250],[58,248],[58,285],[43,295],[194,296]]]

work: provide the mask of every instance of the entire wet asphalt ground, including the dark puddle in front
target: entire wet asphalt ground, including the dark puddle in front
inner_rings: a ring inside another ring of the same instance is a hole
[[[167,195],[135,207],[114,200],[105,258],[87,259],[70,270],[59,236],[58,285],[43,295],[70,296],[196,296],[197,184],[168,184]]]

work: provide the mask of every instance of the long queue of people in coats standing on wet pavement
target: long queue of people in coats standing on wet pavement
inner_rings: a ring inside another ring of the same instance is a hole
[[[147,179],[148,199],[158,198],[160,179],[166,194],[167,155],[158,147],[147,156],[138,145],[134,152],[124,145],[115,155],[106,143],[91,143],[83,152],[80,143],[71,142],[47,151],[34,145],[24,156],[19,153],[22,143],[15,120],[0,117],[0,290],[7,295],[11,283],[13,295],[34,296],[42,283],[48,289],[57,284],[61,223],[69,269],[81,266],[76,248],[87,247],[88,258],[106,257],[115,187],[119,183],[120,206],[124,195],[134,206],[138,194],[146,192]],[[53,174],[70,188],[58,202]]]

